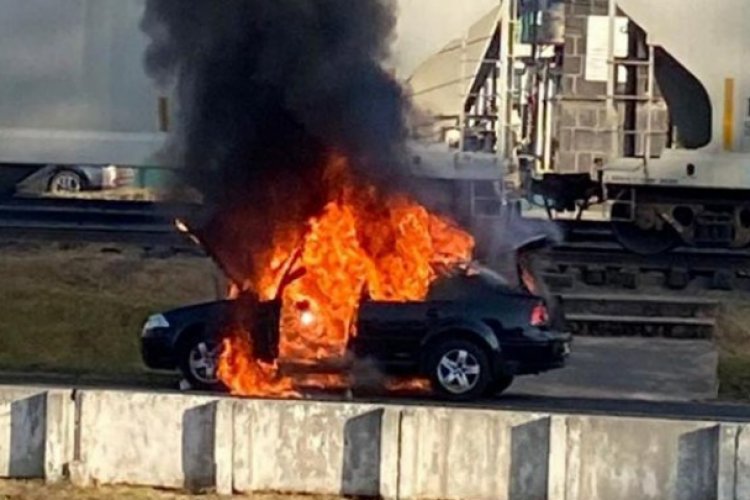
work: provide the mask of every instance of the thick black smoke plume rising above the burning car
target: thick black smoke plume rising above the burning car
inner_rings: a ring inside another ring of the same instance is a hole
[[[147,1],[146,68],[179,109],[168,154],[223,212],[207,238],[268,245],[282,219],[315,213],[331,152],[357,178],[394,182],[404,98],[381,66],[394,25],[392,0]]]

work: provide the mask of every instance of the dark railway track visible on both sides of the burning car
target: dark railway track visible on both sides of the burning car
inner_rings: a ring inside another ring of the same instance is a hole
[[[196,204],[59,198],[0,200],[0,240],[40,238],[146,245],[191,245],[174,220],[200,215]],[[661,273],[668,288],[682,289],[695,278],[731,289],[750,282],[750,250],[678,248],[660,255],[628,252],[603,222],[559,222],[565,243],[537,260],[553,289],[576,281],[637,289],[642,275]],[[750,285],[748,285],[750,288]]]

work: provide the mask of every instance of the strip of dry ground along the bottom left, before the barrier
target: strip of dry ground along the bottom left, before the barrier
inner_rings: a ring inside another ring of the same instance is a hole
[[[250,498],[254,500],[337,500],[340,497],[297,496],[263,494],[242,497],[220,497],[217,495],[188,495],[148,488],[98,487],[75,488],[69,484],[45,485],[39,481],[0,480],[0,500],[182,500],[202,498],[206,500],[227,498]]]

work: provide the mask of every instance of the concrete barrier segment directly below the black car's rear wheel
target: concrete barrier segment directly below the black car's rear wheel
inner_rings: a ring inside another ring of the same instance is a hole
[[[403,410],[403,498],[546,498],[549,416]]]

